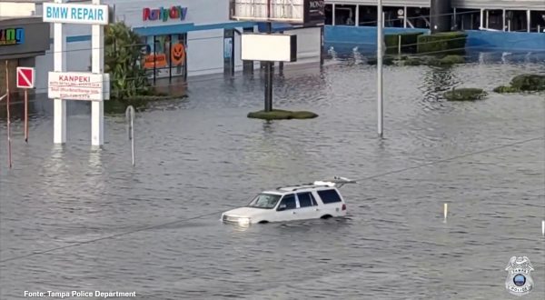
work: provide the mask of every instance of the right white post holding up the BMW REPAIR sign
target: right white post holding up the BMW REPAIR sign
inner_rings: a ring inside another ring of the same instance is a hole
[[[100,5],[102,0],[93,0],[94,5]],[[103,25],[91,25],[92,38],[91,72],[104,73],[104,30]],[[91,102],[91,145],[104,145],[104,101]]]

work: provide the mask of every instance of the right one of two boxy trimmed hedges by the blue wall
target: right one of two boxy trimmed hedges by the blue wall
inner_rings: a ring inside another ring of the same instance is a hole
[[[431,55],[462,55],[465,53],[467,34],[462,32],[418,35],[417,52]]]

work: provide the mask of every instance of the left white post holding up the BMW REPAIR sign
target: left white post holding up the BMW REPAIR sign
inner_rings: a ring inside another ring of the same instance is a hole
[[[54,0],[55,3],[63,3],[63,0]],[[54,23],[54,71],[66,71],[66,35],[64,35],[64,25],[62,23]],[[53,143],[66,143],[66,101],[54,99],[54,121],[53,121]]]

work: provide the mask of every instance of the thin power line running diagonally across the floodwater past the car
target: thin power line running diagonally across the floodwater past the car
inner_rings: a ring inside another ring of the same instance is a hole
[[[410,166],[410,167],[406,167],[406,168],[402,168],[402,169],[398,169],[398,170],[393,170],[393,171],[381,173],[381,174],[378,174],[378,175],[371,175],[371,176],[367,176],[367,177],[362,177],[360,179],[355,179],[355,180],[356,181],[371,180],[371,179],[378,178],[378,177],[381,177],[381,176],[398,174],[398,173],[409,171],[409,170],[412,170],[412,169],[421,168],[421,167],[424,167],[424,166],[441,164],[441,163],[449,162],[451,160],[459,159],[459,158],[462,158],[462,157],[487,153],[487,152],[495,151],[495,150],[498,150],[498,149],[501,149],[501,148],[507,148],[507,147],[510,147],[510,146],[513,146],[513,145],[522,145],[522,144],[525,144],[525,143],[529,143],[529,142],[537,141],[537,140],[542,140],[542,139],[544,139],[543,136],[533,137],[533,138],[530,138],[530,139],[521,140],[521,141],[513,142],[513,143],[510,143],[510,144],[498,145],[498,146],[494,146],[494,147],[490,147],[490,148],[470,152],[470,153],[463,154],[463,155],[451,156],[449,158],[436,160],[436,161],[433,161],[433,162],[430,162],[430,163],[421,164],[421,165],[413,165],[413,166]],[[229,206],[234,207],[234,205],[229,205]],[[120,237],[120,236],[124,236],[124,235],[132,235],[134,233],[143,232],[143,231],[147,231],[147,230],[151,230],[151,229],[156,229],[156,228],[160,228],[160,227],[167,226],[167,225],[174,225],[174,224],[179,224],[179,223],[183,223],[183,222],[187,222],[187,221],[191,221],[191,220],[195,220],[195,219],[200,219],[200,218],[203,218],[203,217],[209,216],[209,215],[219,215],[222,212],[223,212],[223,210],[216,211],[216,212],[209,213],[209,214],[196,215],[196,216],[193,216],[193,217],[183,218],[183,219],[179,219],[179,220],[175,220],[175,221],[171,221],[171,222],[167,222],[167,223],[163,223],[163,224],[159,224],[159,225],[145,226],[143,228],[126,231],[126,232],[119,233],[119,234],[107,235],[107,236],[103,236],[103,237],[99,237],[99,238],[95,238],[95,239],[90,239],[90,240],[87,240],[87,241],[84,241],[84,242],[78,242],[78,243],[74,243],[74,244],[71,244],[71,245],[64,245],[64,246],[59,246],[59,247],[54,247],[54,248],[51,248],[51,249],[47,249],[47,250],[44,250],[44,251],[33,252],[33,253],[30,253],[30,254],[26,254],[26,255],[14,256],[14,257],[10,257],[10,258],[6,258],[4,260],[1,260],[0,263],[6,263],[6,262],[15,261],[15,260],[25,259],[25,258],[35,256],[35,255],[45,255],[45,254],[48,254],[48,253],[51,253],[51,252],[54,252],[54,251],[57,251],[57,250],[72,248],[72,247],[79,246],[79,245],[87,245],[87,244],[91,244],[91,243],[94,243],[94,242],[99,242],[99,241],[103,241],[103,240],[106,240],[106,239],[112,239],[112,238]]]

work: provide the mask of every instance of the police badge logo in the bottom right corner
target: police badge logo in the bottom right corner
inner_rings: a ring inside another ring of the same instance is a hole
[[[530,272],[533,271],[533,267],[528,257],[511,257],[505,271],[509,272],[507,279],[505,279],[505,288],[510,294],[526,295],[530,293],[533,287]]]

